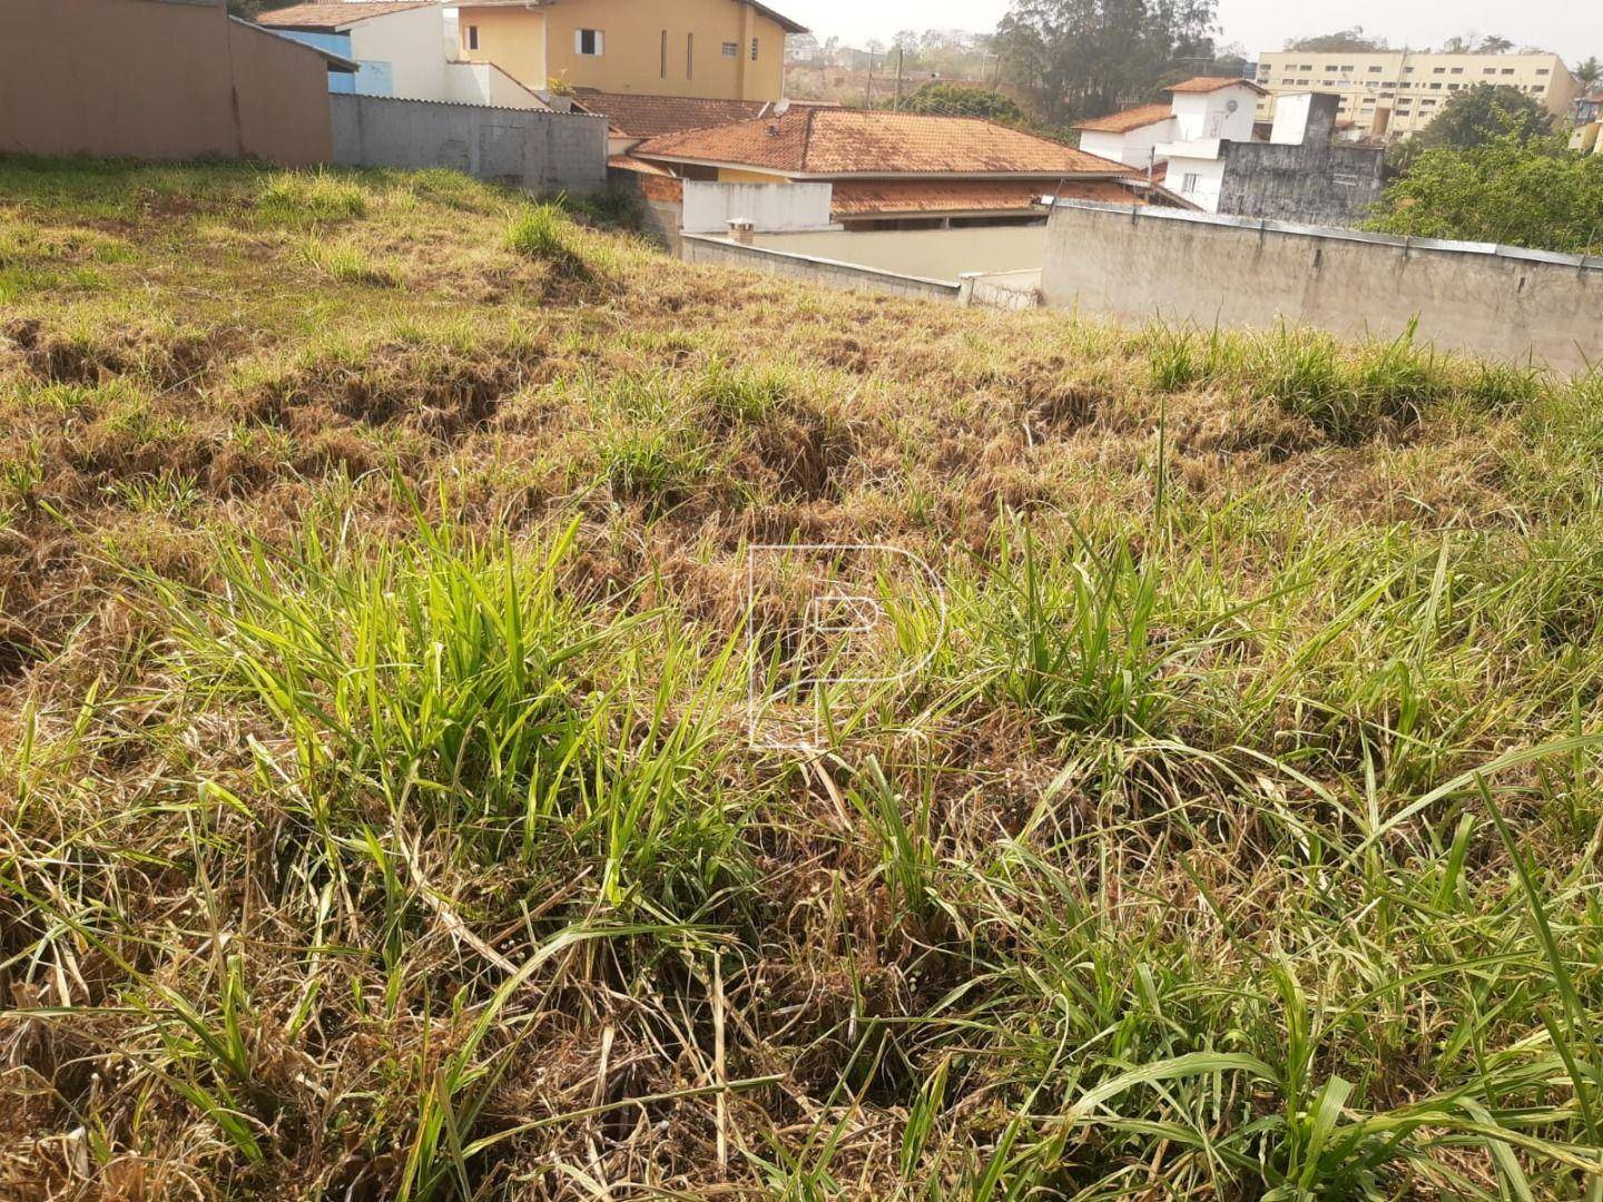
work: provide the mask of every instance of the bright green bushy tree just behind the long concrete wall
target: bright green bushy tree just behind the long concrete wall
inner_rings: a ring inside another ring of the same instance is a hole
[[[1369,228],[1592,253],[1603,248],[1603,155],[1513,131],[1468,151],[1428,149],[1387,189]]]

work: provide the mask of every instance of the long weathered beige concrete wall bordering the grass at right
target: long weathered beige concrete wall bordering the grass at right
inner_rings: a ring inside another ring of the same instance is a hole
[[[1052,210],[1042,295],[1125,322],[1417,338],[1439,349],[1603,362],[1603,258],[1172,208],[1064,200]]]

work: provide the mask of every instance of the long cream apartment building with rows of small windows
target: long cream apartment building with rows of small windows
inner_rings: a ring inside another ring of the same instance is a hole
[[[1569,112],[1577,85],[1558,54],[1311,53],[1276,50],[1258,58],[1258,120],[1273,120],[1276,98],[1327,91],[1340,96],[1339,122],[1358,133],[1403,138],[1423,130],[1452,93],[1476,83],[1516,88],[1548,112]]]

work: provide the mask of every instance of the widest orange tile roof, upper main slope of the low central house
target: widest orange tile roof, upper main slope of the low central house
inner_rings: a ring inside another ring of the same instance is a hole
[[[641,159],[728,163],[787,176],[1130,175],[1132,168],[978,117],[790,109],[635,147]]]

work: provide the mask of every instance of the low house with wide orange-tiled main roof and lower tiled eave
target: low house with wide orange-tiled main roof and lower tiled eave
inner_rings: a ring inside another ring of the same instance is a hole
[[[1047,194],[1162,202],[1124,163],[976,117],[792,106],[614,160],[635,163],[672,179],[829,183],[832,220],[851,231],[1039,224]]]

